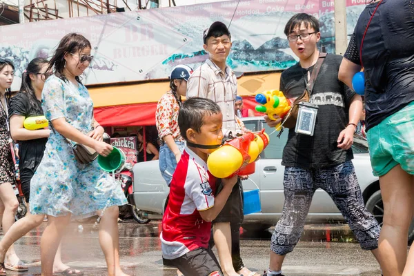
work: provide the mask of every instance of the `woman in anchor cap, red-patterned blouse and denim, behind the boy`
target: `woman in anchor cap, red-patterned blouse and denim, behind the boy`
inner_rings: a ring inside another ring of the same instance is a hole
[[[181,96],[186,96],[187,81],[193,69],[186,65],[175,66],[170,75],[170,90],[159,99],[155,119],[161,146],[159,148],[159,170],[170,186],[172,174],[181,158],[186,144],[179,132],[178,112]]]

